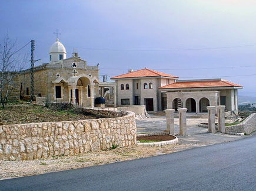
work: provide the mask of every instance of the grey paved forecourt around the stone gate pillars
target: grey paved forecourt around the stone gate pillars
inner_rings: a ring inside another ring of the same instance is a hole
[[[164,131],[166,129],[166,118],[165,116],[150,115],[151,118],[138,120],[137,133],[145,132],[157,132]],[[179,134],[178,118],[174,118],[175,135],[179,138],[179,144],[217,144],[221,142],[230,142],[244,137],[236,135],[227,135],[217,132],[211,134],[207,132],[207,128],[198,127],[200,122],[207,122],[207,118],[187,118],[187,137],[183,137]]]

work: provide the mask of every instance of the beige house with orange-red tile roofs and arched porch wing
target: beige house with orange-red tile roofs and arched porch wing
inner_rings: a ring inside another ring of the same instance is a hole
[[[238,112],[238,89],[242,86],[223,79],[178,80],[177,76],[151,69],[129,70],[112,77],[117,83],[118,105],[146,105],[147,111],[188,108],[207,112],[207,106],[225,105]]]

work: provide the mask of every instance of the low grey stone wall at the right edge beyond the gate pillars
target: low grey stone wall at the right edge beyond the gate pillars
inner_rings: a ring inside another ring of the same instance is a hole
[[[251,114],[247,117],[241,124],[231,125],[226,127],[226,133],[247,133],[251,134],[251,132],[256,131],[256,113]]]

